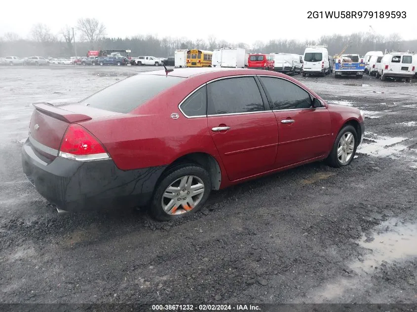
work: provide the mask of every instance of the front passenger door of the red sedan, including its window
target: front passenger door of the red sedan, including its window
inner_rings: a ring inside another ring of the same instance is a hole
[[[331,121],[327,108],[312,108],[312,96],[289,80],[261,76],[260,81],[278,123],[275,167],[286,167],[325,155],[331,146]]]

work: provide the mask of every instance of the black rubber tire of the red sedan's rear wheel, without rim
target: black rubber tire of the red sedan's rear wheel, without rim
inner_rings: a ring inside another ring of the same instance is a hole
[[[162,195],[168,186],[170,186],[175,180],[185,175],[194,175],[200,178],[204,183],[204,194],[200,202],[190,211],[177,215],[168,214],[162,208]],[[169,221],[188,216],[191,213],[198,211],[204,205],[210,195],[210,191],[211,178],[207,170],[193,163],[179,164],[169,169],[158,182],[152,198],[152,205],[150,208],[151,214],[155,219],[159,221]]]

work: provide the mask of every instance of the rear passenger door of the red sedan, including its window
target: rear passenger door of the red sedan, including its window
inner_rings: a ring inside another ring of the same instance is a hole
[[[230,180],[273,168],[278,126],[254,76],[207,84],[207,126]]]

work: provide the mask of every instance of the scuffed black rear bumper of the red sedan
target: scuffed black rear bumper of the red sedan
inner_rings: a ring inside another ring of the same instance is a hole
[[[29,140],[23,145],[22,167],[40,195],[72,212],[145,206],[166,168],[123,171],[111,159],[79,162],[62,157],[47,164]]]

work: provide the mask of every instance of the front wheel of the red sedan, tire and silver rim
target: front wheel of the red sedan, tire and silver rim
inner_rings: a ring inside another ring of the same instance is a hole
[[[358,136],[351,125],[344,126],[336,137],[327,163],[336,168],[348,166],[355,157]]]

